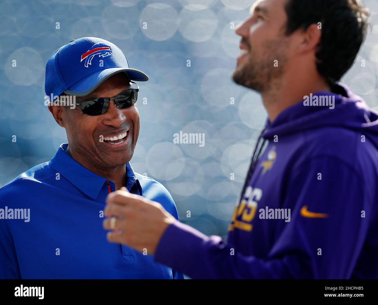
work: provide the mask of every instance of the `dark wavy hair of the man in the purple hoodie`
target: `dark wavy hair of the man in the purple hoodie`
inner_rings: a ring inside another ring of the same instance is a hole
[[[331,86],[350,69],[369,26],[369,9],[359,0],[288,0],[286,35],[321,22],[317,67]]]

